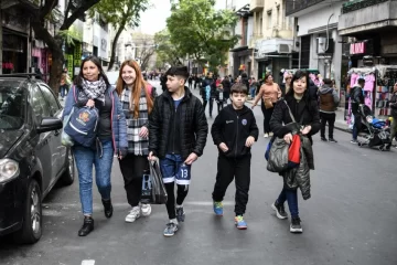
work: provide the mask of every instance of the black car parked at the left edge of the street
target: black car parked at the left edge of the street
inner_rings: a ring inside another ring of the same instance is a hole
[[[20,243],[42,235],[42,200],[61,180],[74,181],[74,159],[62,146],[63,108],[30,75],[0,75],[0,236]]]

